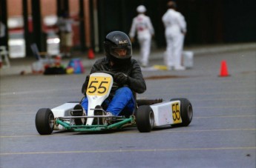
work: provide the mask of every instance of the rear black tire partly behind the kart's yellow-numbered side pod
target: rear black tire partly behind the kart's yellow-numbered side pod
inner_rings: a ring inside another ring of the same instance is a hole
[[[193,108],[187,98],[172,98],[171,101],[180,101],[181,124],[172,124],[172,127],[187,127],[193,118]]]

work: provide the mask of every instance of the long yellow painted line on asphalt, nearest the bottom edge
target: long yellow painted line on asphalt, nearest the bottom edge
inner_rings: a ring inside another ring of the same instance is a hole
[[[80,151],[48,151],[48,152],[5,152],[0,155],[39,155],[39,154],[75,154],[75,153],[114,153],[114,152],[173,152],[202,150],[254,150],[256,147],[214,147],[214,148],[169,148],[169,149],[118,149],[118,150],[80,150]]]

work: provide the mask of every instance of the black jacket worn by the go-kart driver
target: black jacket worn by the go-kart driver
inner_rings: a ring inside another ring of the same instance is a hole
[[[128,75],[127,86],[135,93],[144,93],[146,90],[145,80],[142,75],[140,65],[135,59],[131,58],[128,64],[122,64],[122,66],[111,66],[110,61],[107,57],[98,59],[91,68],[91,73],[96,73],[97,71],[108,71],[111,73],[125,73]],[[114,81],[111,92],[118,89],[120,86]]]

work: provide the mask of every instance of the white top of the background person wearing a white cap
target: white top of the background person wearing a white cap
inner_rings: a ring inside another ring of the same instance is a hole
[[[151,38],[151,36],[154,35],[154,28],[148,16],[145,16],[141,13],[133,19],[131,24],[131,31],[129,33],[130,37],[134,38],[136,32],[138,38]]]

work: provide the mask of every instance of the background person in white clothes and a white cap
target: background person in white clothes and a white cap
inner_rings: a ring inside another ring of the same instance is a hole
[[[144,5],[137,7],[138,16],[135,17],[131,24],[129,36],[131,41],[134,41],[134,36],[137,33],[137,38],[140,44],[140,63],[142,67],[148,66],[148,56],[151,50],[151,38],[154,36],[154,27],[151,24],[151,19],[145,16],[146,8]]]

